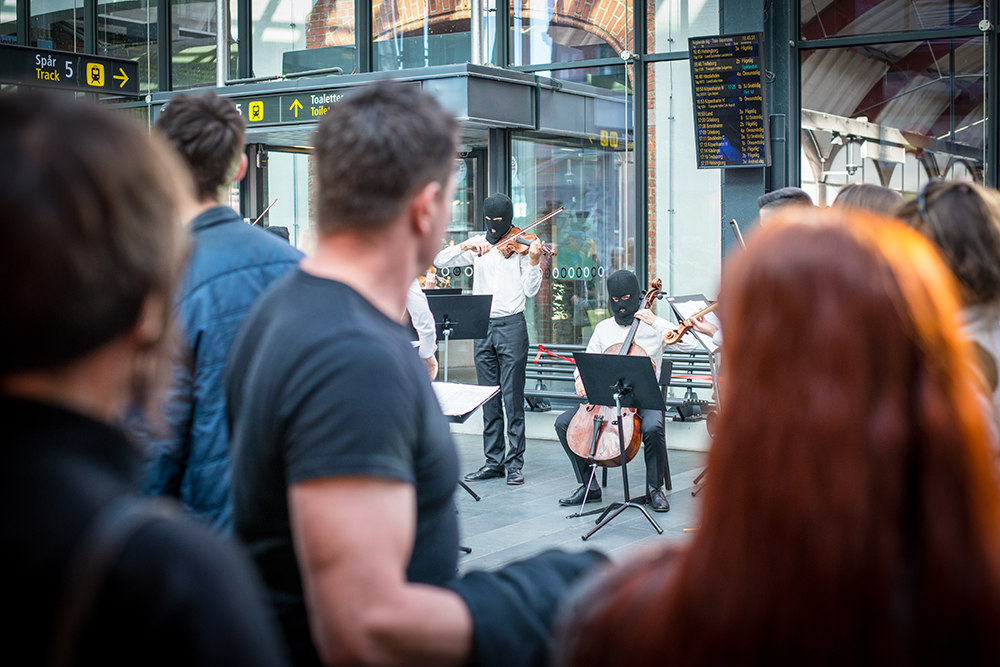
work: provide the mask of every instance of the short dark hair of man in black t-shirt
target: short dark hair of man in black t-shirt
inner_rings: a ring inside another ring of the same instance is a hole
[[[379,82],[333,105],[316,131],[317,227],[376,231],[454,171],[457,123],[417,86]]]

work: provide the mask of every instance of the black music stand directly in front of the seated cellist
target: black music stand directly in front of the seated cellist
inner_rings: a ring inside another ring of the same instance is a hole
[[[583,535],[582,539],[586,540],[611,523],[616,516],[629,507],[634,507],[642,512],[643,516],[656,529],[656,532],[663,534],[660,524],[656,523],[646,508],[639,503],[632,502],[629,498],[628,464],[625,460],[625,434],[622,428],[622,408],[660,411],[666,409],[663,403],[663,394],[656,382],[656,373],[653,371],[653,365],[649,362],[649,357],[574,352],[573,358],[576,359],[580,379],[587,391],[587,402],[591,405],[614,406],[618,411],[618,442],[621,452],[622,488],[624,489],[623,500],[608,505],[601,516],[597,518],[597,526]]]

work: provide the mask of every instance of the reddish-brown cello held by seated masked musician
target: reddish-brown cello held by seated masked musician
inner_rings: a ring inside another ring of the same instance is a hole
[[[639,303],[639,310],[648,308],[663,289],[663,282],[657,278],[649,283],[649,290]],[[640,320],[632,322],[632,327],[621,343],[611,345],[603,354],[620,354],[649,357],[642,346],[635,344],[635,333],[639,330]],[[654,368],[656,364],[649,360]],[[622,432],[625,444],[625,462],[631,461],[639,451],[642,443],[640,426],[642,418],[634,408],[622,408]],[[613,407],[591,405],[585,403],[577,408],[569,428],[566,440],[574,454],[582,459],[606,468],[617,468],[621,465],[621,443],[618,438],[618,413]]]

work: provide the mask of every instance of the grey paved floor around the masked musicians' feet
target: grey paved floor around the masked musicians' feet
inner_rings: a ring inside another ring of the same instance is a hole
[[[482,436],[454,434],[462,474],[483,464]],[[571,551],[597,549],[613,559],[645,547],[656,547],[690,539],[684,528],[697,526],[700,500],[691,496],[694,478],[705,465],[705,454],[695,451],[668,450],[673,490],[667,492],[670,511],[650,512],[663,528],[658,535],[641,512],[625,510],[609,525],[584,542],[581,536],[594,525],[596,516],[566,518],[578,508],[561,507],[559,498],[578,486],[566,454],[558,441],[529,438],[525,451],[522,486],[507,486],[504,479],[471,482],[482,501],[459,487],[455,494],[459,529],[463,545],[472,553],[461,555],[459,569],[491,570],[546,549],[559,547]],[[600,472],[598,472],[600,475]],[[645,470],[642,456],[629,464],[632,496],[645,494]],[[608,473],[608,486],[602,503],[589,503],[587,509],[604,507],[622,496],[621,472]]]

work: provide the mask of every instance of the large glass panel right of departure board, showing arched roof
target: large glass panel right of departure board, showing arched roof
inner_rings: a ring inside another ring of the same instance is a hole
[[[816,202],[855,182],[912,192],[897,170],[981,180],[983,46],[974,37],[802,51],[802,181]],[[951,169],[956,160],[970,168]]]

